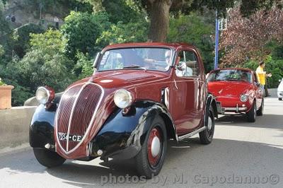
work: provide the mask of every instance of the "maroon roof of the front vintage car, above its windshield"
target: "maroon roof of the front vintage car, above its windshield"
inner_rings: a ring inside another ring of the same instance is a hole
[[[127,47],[169,47],[171,49],[178,49],[180,47],[190,47],[196,49],[195,46],[178,42],[178,43],[166,43],[166,42],[133,42],[133,43],[122,43],[122,44],[115,44],[115,45],[108,45],[103,49],[103,52],[108,49],[115,49],[115,48],[127,48]]]

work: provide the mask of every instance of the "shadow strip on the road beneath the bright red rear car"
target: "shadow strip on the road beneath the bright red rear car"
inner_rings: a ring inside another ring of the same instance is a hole
[[[229,125],[241,127],[258,127],[267,129],[282,129],[283,130],[283,115],[279,114],[263,114],[256,117],[256,122],[248,122],[246,115],[227,114],[219,117],[215,121],[216,125]]]

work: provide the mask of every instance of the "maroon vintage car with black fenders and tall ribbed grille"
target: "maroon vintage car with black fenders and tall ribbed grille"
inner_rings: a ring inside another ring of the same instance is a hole
[[[216,100],[207,93],[204,66],[186,44],[110,45],[98,53],[92,76],[62,95],[40,87],[30,125],[35,158],[48,168],[66,159],[137,161],[146,178],[157,175],[167,140],[214,134]]]

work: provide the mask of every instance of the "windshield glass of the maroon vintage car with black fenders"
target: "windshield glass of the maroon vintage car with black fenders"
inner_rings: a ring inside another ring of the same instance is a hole
[[[117,69],[144,69],[168,71],[172,50],[161,47],[110,49],[98,61],[98,71]]]

